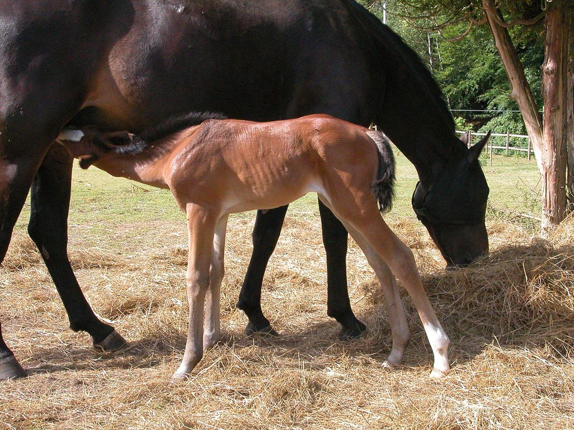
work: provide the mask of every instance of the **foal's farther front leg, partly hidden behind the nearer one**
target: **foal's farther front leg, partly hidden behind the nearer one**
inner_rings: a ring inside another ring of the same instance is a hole
[[[221,333],[220,329],[220,290],[224,275],[223,256],[225,252],[225,232],[227,215],[220,218],[215,227],[213,249],[211,251],[210,287],[205,296],[205,321],[203,325],[203,349],[214,346]]]

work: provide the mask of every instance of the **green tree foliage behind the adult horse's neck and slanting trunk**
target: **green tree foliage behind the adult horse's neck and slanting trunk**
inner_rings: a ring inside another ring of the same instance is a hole
[[[359,2],[382,17],[382,1]],[[497,4],[507,22],[530,19],[541,11],[540,0],[505,0]],[[518,105],[509,97],[510,81],[488,26],[475,25],[461,40],[449,41],[468,29],[469,19],[483,18],[482,0],[388,0],[387,11],[387,24],[416,50],[439,81],[458,130],[526,134],[518,112],[502,112],[518,111]],[[542,21],[509,29],[541,110],[543,30]]]

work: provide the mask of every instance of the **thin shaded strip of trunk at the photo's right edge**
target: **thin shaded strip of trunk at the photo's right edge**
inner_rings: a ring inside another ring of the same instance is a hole
[[[565,8],[567,14],[568,28],[568,109],[567,109],[567,150],[568,150],[568,191],[567,198],[569,203],[570,212],[574,211],[574,10],[572,5],[574,2]]]

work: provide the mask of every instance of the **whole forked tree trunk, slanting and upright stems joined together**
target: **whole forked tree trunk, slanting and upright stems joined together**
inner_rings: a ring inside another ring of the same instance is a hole
[[[502,14],[483,0],[488,26],[494,36],[514,100],[522,113],[536,155],[542,180],[542,233],[564,220],[566,209],[567,58],[568,22],[566,10],[572,0],[549,3],[545,18],[546,50],[542,76],[544,127],[522,64],[506,28],[499,25]],[[496,18],[496,19],[495,19]]]

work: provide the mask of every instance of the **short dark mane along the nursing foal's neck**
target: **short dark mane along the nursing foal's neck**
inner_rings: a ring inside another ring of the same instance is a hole
[[[141,154],[153,142],[165,138],[177,131],[184,130],[188,127],[197,126],[208,119],[227,119],[227,116],[215,112],[189,112],[188,114],[172,116],[155,126],[146,128],[144,131],[134,136],[134,139],[128,145],[117,146],[114,148],[116,154],[136,155]],[[96,142],[99,146],[104,147],[102,142]],[[158,150],[161,150],[158,147]]]

